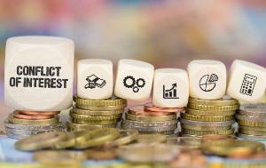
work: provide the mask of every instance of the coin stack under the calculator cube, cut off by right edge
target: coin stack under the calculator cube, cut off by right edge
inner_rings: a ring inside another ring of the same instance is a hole
[[[246,140],[266,140],[266,104],[242,105],[236,115],[239,124],[239,138]]]

